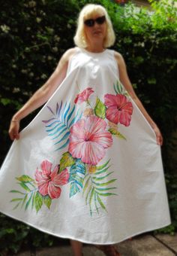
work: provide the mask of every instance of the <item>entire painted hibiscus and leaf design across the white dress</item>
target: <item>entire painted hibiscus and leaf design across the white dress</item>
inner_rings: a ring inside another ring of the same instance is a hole
[[[121,83],[117,81],[113,88],[115,94],[107,93],[103,100],[97,96],[95,105],[90,102],[95,91],[87,87],[77,94],[74,106],[71,102],[56,103],[55,111],[47,106],[51,117],[43,120],[43,124],[53,142],[53,151],[62,150],[63,154],[55,166],[43,160],[34,171],[34,178],[28,175],[17,178],[23,191],[10,191],[20,194],[11,200],[17,203],[14,209],[19,206],[27,209],[31,205],[38,212],[43,204],[49,209],[52,200],[59,200],[62,185],[67,185],[71,199],[83,194],[90,215],[101,210],[107,212],[104,199],[116,196],[117,187],[113,185],[116,178],[111,171],[111,159],[104,158],[113,145],[113,137],[126,139],[118,127],[130,126],[133,113],[133,105]],[[81,104],[83,111],[76,108]]]

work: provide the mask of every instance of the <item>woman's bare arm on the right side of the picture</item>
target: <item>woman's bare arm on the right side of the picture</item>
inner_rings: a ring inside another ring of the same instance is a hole
[[[151,125],[152,129],[154,130],[154,133],[156,134],[156,137],[157,137],[157,144],[162,145],[163,137],[160,133],[160,130],[157,127],[157,124],[154,123],[154,121],[149,116],[148,112],[143,107],[142,102],[140,102],[139,98],[136,96],[136,93],[134,92],[133,87],[130,83],[130,79],[128,78],[127,68],[126,68],[123,57],[121,56],[120,53],[115,52],[115,59],[118,62],[118,70],[119,70],[121,83],[124,84],[124,87],[127,90],[127,93],[130,94],[131,98],[136,103],[139,110],[142,112],[142,114],[145,116],[146,120],[148,120],[148,123]]]

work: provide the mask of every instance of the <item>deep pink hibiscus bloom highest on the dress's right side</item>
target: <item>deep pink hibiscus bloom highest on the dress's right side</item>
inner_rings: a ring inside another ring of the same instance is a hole
[[[127,101],[126,96],[122,94],[106,94],[104,96],[104,104],[107,106],[106,116],[108,120],[116,124],[124,124],[124,126],[130,125],[133,105]]]

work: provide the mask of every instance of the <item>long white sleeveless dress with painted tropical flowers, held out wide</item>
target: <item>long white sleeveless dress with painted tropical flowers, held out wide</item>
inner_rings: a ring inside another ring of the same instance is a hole
[[[160,146],[114,51],[76,48],[65,80],[14,141],[0,211],[55,236],[121,242],[171,223]]]

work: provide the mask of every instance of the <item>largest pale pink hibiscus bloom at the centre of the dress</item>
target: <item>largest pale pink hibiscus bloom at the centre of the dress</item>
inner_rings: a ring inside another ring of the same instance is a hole
[[[107,122],[90,116],[80,119],[71,127],[68,151],[83,163],[95,166],[106,154],[106,148],[113,144],[111,133],[106,130]]]

